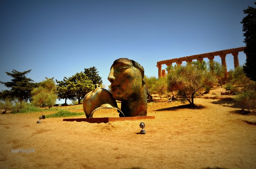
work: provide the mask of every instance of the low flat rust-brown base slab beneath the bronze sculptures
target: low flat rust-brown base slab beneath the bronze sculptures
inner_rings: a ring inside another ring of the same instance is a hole
[[[115,121],[125,121],[125,120],[142,120],[142,119],[155,119],[155,116],[136,116],[136,117],[101,117],[101,118],[77,118],[77,119],[63,119],[67,122],[89,122],[89,123],[107,123]]]

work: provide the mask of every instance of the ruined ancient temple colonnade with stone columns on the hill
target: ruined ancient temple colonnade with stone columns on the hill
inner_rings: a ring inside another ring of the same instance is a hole
[[[182,64],[182,61],[186,61],[187,63],[192,62],[193,60],[198,60],[202,62],[204,58],[208,58],[210,61],[213,61],[215,56],[219,56],[221,58],[221,63],[222,66],[225,67],[225,78],[228,78],[228,71],[227,71],[227,64],[226,64],[226,55],[227,54],[232,54],[234,57],[234,66],[235,68],[239,66],[239,61],[238,61],[238,53],[245,51],[245,47],[238,47],[238,48],[233,48],[233,49],[227,49],[227,50],[220,50],[216,52],[210,52],[210,53],[203,53],[199,55],[192,55],[192,56],[185,56],[182,58],[174,58],[174,59],[169,59],[165,61],[158,61],[156,63],[156,66],[158,67],[158,78],[165,77],[165,69],[162,70],[162,64],[166,64],[167,66],[170,66],[173,63],[176,63],[178,65]],[[247,58],[247,56],[246,56]]]

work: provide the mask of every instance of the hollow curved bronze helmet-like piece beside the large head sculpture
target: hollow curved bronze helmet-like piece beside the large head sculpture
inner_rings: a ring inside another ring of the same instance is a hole
[[[115,108],[122,114],[112,94],[108,90],[101,88],[98,84],[95,84],[94,90],[87,93],[83,100],[83,110],[86,118],[92,118],[94,111],[100,108]],[[122,115],[124,116],[124,114]]]

